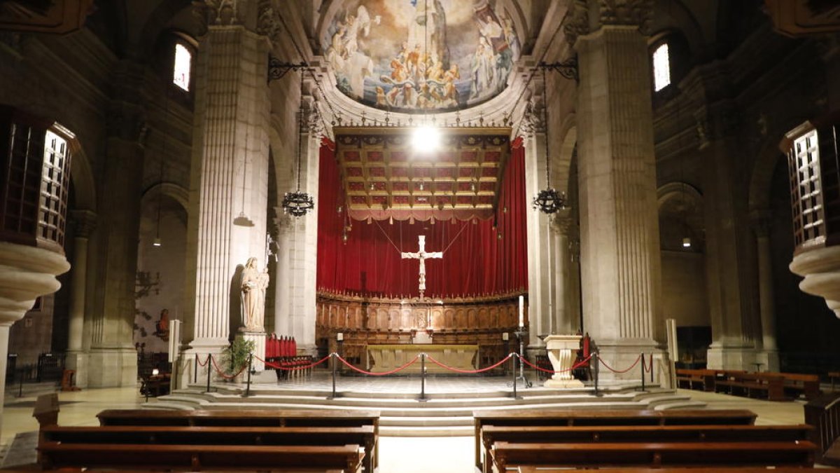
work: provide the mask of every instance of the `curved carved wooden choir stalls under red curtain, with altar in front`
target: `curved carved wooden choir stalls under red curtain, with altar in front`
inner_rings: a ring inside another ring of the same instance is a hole
[[[456,369],[485,368],[516,348],[512,332],[519,326],[520,296],[399,299],[320,292],[318,348],[374,373],[399,368],[419,353]],[[527,325],[527,298],[522,307]],[[426,369],[453,373],[428,361]],[[415,363],[399,374],[419,372]]]

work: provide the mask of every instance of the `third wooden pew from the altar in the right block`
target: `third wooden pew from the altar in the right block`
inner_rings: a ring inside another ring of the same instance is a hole
[[[797,442],[674,442],[511,444],[492,451],[499,471],[508,465],[586,468],[612,466],[800,466],[811,467],[816,445]]]

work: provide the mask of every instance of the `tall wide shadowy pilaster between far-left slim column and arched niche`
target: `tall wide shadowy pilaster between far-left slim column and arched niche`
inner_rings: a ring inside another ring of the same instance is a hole
[[[108,141],[97,205],[97,291],[93,295],[87,377],[91,387],[134,385],[134,282],[147,128],[144,68],[122,61],[108,111]]]

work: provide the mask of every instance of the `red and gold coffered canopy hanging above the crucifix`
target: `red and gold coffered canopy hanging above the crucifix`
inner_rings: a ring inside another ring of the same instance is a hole
[[[441,129],[431,153],[412,128],[335,128],[336,157],[355,220],[470,220],[493,215],[510,154],[509,128]]]

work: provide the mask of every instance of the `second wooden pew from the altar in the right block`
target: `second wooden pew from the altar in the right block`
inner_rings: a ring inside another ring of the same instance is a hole
[[[588,442],[795,442],[807,440],[811,426],[668,425],[668,426],[496,426],[481,431],[485,471],[489,473],[491,451],[496,442],[517,444]]]

